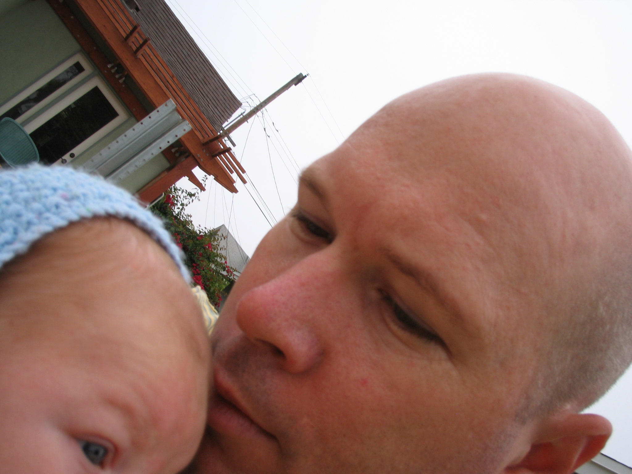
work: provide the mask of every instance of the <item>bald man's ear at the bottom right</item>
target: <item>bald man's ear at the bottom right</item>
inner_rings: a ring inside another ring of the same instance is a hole
[[[571,474],[599,454],[611,433],[603,416],[560,410],[537,423],[526,454],[502,473]]]

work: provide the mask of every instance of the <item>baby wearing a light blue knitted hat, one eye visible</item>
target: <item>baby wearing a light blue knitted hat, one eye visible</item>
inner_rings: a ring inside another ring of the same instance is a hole
[[[210,354],[158,219],[66,167],[0,171],[0,473],[175,474]]]

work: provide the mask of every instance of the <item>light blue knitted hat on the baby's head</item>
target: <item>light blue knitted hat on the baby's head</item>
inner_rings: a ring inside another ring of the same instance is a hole
[[[190,283],[183,254],[160,219],[127,191],[66,166],[0,171],[0,268],[46,234],[97,216],[119,217],[143,229],[173,258]]]

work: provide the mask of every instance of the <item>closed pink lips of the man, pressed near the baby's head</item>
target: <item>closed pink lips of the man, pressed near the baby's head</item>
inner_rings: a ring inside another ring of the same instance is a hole
[[[236,437],[261,437],[274,439],[274,436],[260,427],[248,415],[243,405],[223,377],[215,374],[214,394],[209,400],[209,415],[207,423],[221,434]]]

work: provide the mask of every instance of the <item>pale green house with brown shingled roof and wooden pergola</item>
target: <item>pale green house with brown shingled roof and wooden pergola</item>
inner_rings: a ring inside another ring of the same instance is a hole
[[[0,0],[0,118],[40,162],[85,167],[152,202],[199,167],[236,192],[218,137],[241,107],[164,0]]]

